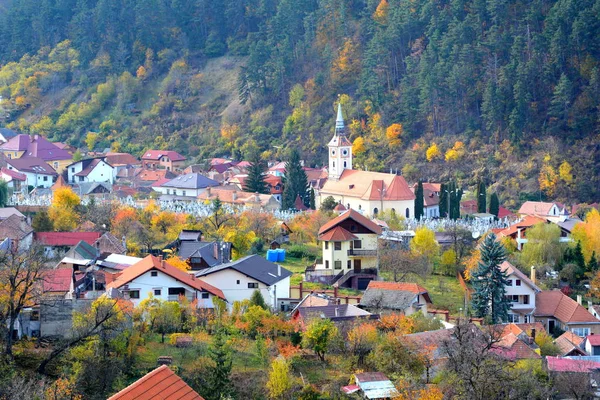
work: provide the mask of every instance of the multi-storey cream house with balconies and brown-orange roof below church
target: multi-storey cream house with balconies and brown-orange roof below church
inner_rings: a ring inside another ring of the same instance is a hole
[[[319,229],[323,263],[314,271],[322,274],[347,276],[350,287],[364,290],[378,274],[377,237],[381,228],[355,210],[347,210]]]

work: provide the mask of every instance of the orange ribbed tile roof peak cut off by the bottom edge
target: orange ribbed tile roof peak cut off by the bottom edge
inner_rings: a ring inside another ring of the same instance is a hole
[[[204,400],[168,366],[161,365],[108,400]]]

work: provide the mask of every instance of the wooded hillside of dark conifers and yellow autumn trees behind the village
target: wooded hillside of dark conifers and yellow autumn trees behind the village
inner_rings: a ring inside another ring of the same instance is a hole
[[[600,0],[12,0],[2,125],[89,149],[482,180],[515,207],[600,195]]]

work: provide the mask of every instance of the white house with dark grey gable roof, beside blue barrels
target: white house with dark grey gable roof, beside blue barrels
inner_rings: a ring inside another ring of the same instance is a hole
[[[221,289],[229,304],[250,299],[257,289],[274,310],[280,309],[278,299],[290,297],[292,272],[258,255],[198,271],[196,276]]]

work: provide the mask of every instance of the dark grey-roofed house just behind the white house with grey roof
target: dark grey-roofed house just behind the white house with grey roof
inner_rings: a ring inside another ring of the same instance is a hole
[[[192,271],[200,271],[231,261],[231,243],[185,240],[179,244],[179,258],[185,260]]]

